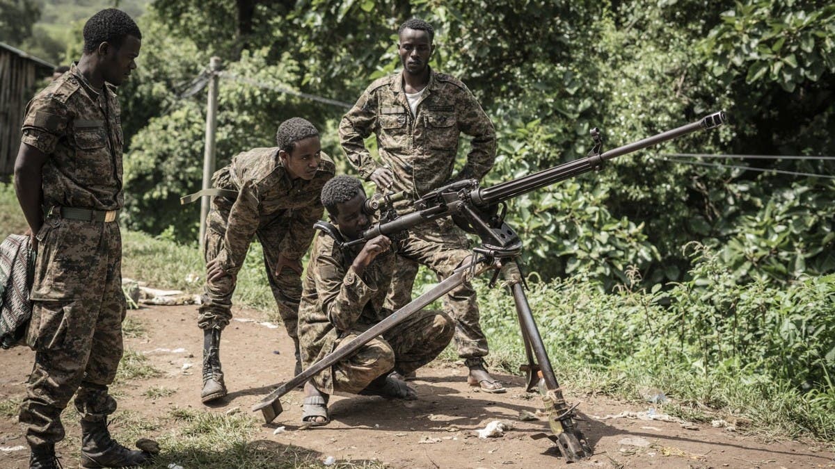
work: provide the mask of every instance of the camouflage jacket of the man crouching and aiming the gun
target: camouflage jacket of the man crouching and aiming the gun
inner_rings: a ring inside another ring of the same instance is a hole
[[[305,368],[334,350],[337,340],[361,334],[392,314],[383,307],[395,256],[388,250],[362,275],[351,268],[362,247],[341,250],[330,236],[313,241],[299,305],[299,348]],[[332,369],[314,376],[316,387],[333,392]]]

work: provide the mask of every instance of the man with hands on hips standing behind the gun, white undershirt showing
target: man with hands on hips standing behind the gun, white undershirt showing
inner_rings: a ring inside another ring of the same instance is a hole
[[[481,179],[493,166],[496,134],[473,93],[457,78],[429,68],[433,28],[410,19],[400,27],[398,53],[402,73],[380,78],[369,86],[340,124],[339,135],[348,160],[359,174],[377,184],[378,191],[406,191],[411,200],[453,179]],[[363,143],[377,135],[382,164]],[[467,162],[453,176],[458,136],[473,136]],[[409,230],[399,255],[447,277],[468,255],[468,240],[450,219],[419,224]],[[392,310],[412,299],[416,265],[398,267],[389,292]],[[456,320],[458,355],[466,359],[468,382],[487,392],[504,392],[483,366],[487,339],[478,324],[478,304],[469,283],[450,292],[445,307]]]

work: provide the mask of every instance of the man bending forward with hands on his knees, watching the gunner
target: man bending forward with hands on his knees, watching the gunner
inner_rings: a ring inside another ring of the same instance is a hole
[[[212,177],[212,186],[228,195],[212,200],[203,244],[208,275],[197,321],[204,331],[203,402],[226,395],[220,331],[232,318],[235,280],[253,236],[264,250],[272,294],[287,335],[296,344],[296,374],[301,372],[296,336],[301,257],[313,239],[313,224],[324,211],[321,186],[333,177],[335,167],[321,153],[319,132],[305,119],[281,123],[276,142],[276,148],[236,155]]]

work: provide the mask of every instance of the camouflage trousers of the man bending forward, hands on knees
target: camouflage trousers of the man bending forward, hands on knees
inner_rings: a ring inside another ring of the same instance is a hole
[[[259,227],[256,236],[264,250],[266,277],[270,282],[272,295],[276,299],[279,315],[284,322],[287,335],[297,340],[296,322],[301,300],[301,275],[289,267],[285,267],[276,275],[276,264],[281,254],[278,246],[289,228],[290,219],[279,216],[270,224]],[[209,264],[223,248],[224,233],[207,227],[205,236],[203,256],[206,264]],[[229,324],[232,319],[232,294],[234,292],[235,279],[230,275],[225,275],[220,280],[206,281],[197,320],[200,329],[223,330]]]

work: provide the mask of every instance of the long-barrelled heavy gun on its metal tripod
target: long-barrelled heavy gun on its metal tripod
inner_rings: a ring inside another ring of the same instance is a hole
[[[298,376],[278,386],[276,390],[264,397],[256,406],[253,406],[252,411],[261,411],[267,423],[273,421],[282,411],[279,399],[288,391],[303,384],[320,371],[333,366],[342,358],[351,355],[362,345],[367,344],[378,335],[382,335],[412,313],[446,295],[474,275],[478,275],[484,270],[493,270],[493,278],[490,280],[490,284],[493,285],[498,280],[498,276],[502,275],[514,296],[525,355],[528,359],[528,364],[522,366],[522,371],[526,373],[528,379],[527,390],[533,391],[537,388],[539,376],[542,376],[541,379],[544,381],[547,390],[544,393],[543,401],[548,413],[548,422],[552,434],[540,433],[533,437],[548,437],[551,441],[554,441],[566,461],[580,461],[584,457],[591,456],[592,452],[588,442],[574,424],[574,409],[577,404],[569,406],[563,397],[562,389],[559,387],[556,376],[554,376],[554,369],[551,366],[542,337],[539,335],[534,316],[531,313],[528,299],[524,294],[524,278],[517,265],[517,260],[522,252],[522,241],[519,240],[519,236],[516,235],[514,229],[504,222],[504,215],[507,213],[505,202],[519,195],[527,194],[564,179],[573,178],[593,169],[600,170],[606,160],[617,156],[645,149],[651,145],[660,144],[699,130],[715,129],[725,123],[726,115],[724,112],[712,113],[694,123],[607,152],[602,151],[603,139],[600,131],[595,128],[591,130],[594,148],[584,158],[574,159],[568,163],[559,164],[553,168],[544,169],[488,188],[479,187],[476,179],[458,180],[423,195],[421,199],[415,201],[415,210],[407,214],[398,215],[394,211],[392,205],[398,199],[397,196],[378,194],[372,199],[367,199],[364,209],[367,212],[380,210],[380,221],[362,233],[362,236],[357,240],[343,240],[333,225],[324,221],[316,222],[317,229],[331,235],[342,248],[347,248],[353,245],[361,245],[379,235],[397,235],[428,220],[452,217],[459,227],[469,233],[478,235],[481,245],[473,248],[473,257],[468,263],[458,267],[453,275],[450,275],[423,295],[418,296],[411,303],[393,312],[392,315],[372,326],[371,329],[358,335],[356,339],[341,345],[337,350],[332,351],[320,361],[302,371]]]

